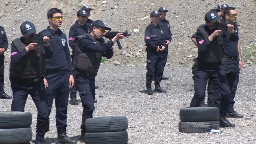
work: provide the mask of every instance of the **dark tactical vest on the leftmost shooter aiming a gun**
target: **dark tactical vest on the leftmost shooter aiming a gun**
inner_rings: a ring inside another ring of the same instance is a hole
[[[14,39],[12,43],[18,52],[21,52],[26,47],[19,38]],[[45,76],[45,72],[46,60],[42,56],[40,46],[37,46],[35,50],[30,50],[21,63],[17,65],[10,63],[10,74],[15,78],[32,80]]]

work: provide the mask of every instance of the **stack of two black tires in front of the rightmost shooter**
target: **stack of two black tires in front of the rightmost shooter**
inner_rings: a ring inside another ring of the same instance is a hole
[[[180,109],[179,131],[183,133],[207,133],[219,129],[219,108],[188,107]]]

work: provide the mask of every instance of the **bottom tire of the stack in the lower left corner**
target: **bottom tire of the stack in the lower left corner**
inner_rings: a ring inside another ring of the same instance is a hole
[[[0,129],[0,144],[23,144],[32,140],[32,128]]]

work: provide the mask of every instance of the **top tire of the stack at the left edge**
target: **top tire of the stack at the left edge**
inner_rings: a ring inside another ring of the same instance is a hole
[[[31,113],[21,111],[0,112],[0,129],[30,127],[31,124]]]

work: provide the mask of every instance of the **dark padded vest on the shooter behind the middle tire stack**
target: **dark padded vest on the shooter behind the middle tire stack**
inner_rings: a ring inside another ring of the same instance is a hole
[[[76,53],[74,56],[74,67],[78,68],[84,72],[89,72],[90,74],[97,74],[98,68],[100,67],[102,53],[99,52],[82,52],[80,48],[78,48],[78,42],[83,37],[91,37],[93,42],[100,44],[100,42],[96,41],[96,39],[89,33],[83,34],[76,43]]]

